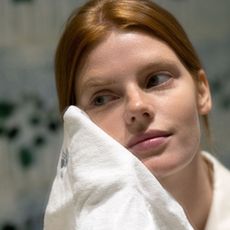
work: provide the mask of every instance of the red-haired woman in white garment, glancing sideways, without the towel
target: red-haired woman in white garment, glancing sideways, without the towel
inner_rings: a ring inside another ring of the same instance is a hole
[[[200,150],[208,81],[170,13],[148,0],[88,2],[58,45],[56,83],[61,112],[84,110],[156,176],[194,228],[229,228],[227,195],[217,186],[230,174]]]

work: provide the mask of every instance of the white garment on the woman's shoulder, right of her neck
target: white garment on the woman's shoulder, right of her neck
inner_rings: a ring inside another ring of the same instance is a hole
[[[205,230],[229,230],[230,226],[230,170],[214,156],[202,152],[213,167],[213,201]]]

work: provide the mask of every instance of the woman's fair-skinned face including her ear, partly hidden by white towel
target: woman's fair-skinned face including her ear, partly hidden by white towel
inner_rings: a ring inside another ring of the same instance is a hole
[[[87,57],[77,82],[78,106],[159,179],[199,152],[199,115],[210,110],[173,50],[141,32],[111,32]]]

